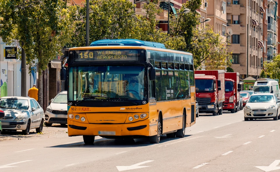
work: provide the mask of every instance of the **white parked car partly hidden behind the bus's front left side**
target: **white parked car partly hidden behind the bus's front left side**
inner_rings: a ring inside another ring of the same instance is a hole
[[[67,124],[67,91],[62,91],[51,100],[45,114],[45,125],[52,126],[53,123]]]

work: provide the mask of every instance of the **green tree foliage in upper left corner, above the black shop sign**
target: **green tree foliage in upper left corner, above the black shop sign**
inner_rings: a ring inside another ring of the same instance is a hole
[[[29,71],[38,59],[39,72],[61,55],[70,42],[70,16],[63,0],[0,0],[0,36],[6,44],[18,40],[26,53]],[[19,58],[21,58],[19,56]]]

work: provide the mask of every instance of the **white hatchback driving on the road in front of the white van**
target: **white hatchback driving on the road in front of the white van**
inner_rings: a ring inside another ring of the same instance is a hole
[[[280,100],[272,93],[257,93],[250,96],[244,108],[244,120],[249,119],[280,119]]]

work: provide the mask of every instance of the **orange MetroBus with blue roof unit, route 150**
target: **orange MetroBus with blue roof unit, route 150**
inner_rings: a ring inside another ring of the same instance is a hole
[[[195,124],[191,53],[141,40],[99,40],[69,49],[61,79],[68,82],[68,135],[184,137]],[[63,65],[63,66],[64,66]]]

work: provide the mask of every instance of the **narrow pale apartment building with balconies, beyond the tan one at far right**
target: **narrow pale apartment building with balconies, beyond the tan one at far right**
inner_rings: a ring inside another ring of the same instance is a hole
[[[277,55],[278,42],[278,3],[275,0],[267,0],[267,62]]]

